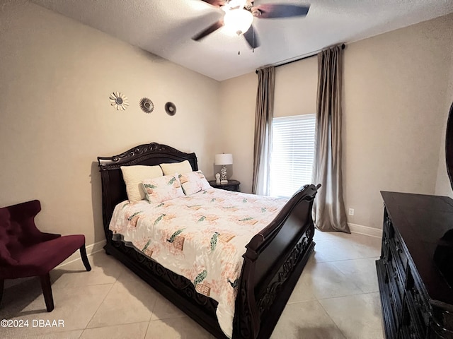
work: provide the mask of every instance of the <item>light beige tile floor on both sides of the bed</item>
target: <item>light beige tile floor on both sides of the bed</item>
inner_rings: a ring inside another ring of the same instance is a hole
[[[374,264],[380,239],[316,231],[315,242],[271,338],[384,338]],[[39,280],[6,280],[0,319],[29,327],[0,327],[0,338],[214,338],[115,258],[89,259],[91,272],[81,261],[52,270],[52,313]],[[33,327],[40,319],[61,319],[64,327]]]

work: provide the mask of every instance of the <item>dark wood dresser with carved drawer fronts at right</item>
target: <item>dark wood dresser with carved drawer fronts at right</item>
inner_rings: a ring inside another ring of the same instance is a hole
[[[386,338],[453,338],[453,200],[381,194],[376,266]]]

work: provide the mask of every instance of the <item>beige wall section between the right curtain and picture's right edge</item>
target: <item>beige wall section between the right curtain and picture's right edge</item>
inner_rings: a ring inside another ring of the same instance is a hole
[[[379,191],[434,194],[453,16],[349,44],[344,54],[343,173],[349,221],[381,228]]]

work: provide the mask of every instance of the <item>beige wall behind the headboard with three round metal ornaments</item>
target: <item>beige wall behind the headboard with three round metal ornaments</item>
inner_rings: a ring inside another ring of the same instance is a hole
[[[8,1],[0,32],[0,206],[38,198],[42,230],[93,244],[104,238],[98,155],[156,141],[197,153],[212,177],[217,81],[34,4]],[[113,91],[129,97],[125,112]]]

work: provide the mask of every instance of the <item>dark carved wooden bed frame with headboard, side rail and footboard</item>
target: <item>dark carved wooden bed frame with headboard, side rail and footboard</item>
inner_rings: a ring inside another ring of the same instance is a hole
[[[98,157],[102,179],[103,226],[107,254],[115,256],[170,302],[200,323],[216,338],[227,338],[217,323],[217,302],[195,291],[190,280],[167,270],[146,256],[113,241],[108,230],[113,209],[127,200],[120,166],[159,165],[188,160],[198,169],[195,153],[167,145],[139,145],[120,155]],[[246,246],[239,279],[233,338],[269,338],[314,249],[311,209],[319,186],[305,185],[280,213]]]

